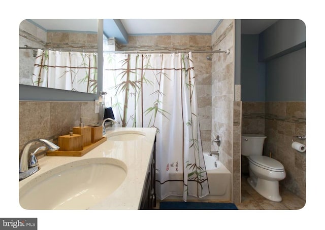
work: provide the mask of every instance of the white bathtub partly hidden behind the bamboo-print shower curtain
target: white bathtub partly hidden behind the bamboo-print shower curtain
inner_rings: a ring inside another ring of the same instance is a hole
[[[218,161],[215,156],[209,156],[208,152],[204,153],[204,162],[206,164],[210,194],[203,198],[197,198],[189,195],[187,197],[187,201],[211,200],[231,202],[232,177],[230,171],[226,169],[224,165],[220,161]],[[182,174],[175,172],[170,174],[170,178],[172,180],[181,180]],[[182,190],[181,186],[182,184],[180,184],[180,187],[178,188],[179,190]],[[177,196],[170,195],[166,199],[177,201],[182,200],[180,196],[182,196],[182,194],[178,194]],[[161,200],[158,193],[157,198]]]

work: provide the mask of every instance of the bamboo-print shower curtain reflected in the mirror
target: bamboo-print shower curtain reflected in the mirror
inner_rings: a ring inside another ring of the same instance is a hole
[[[34,86],[97,92],[96,53],[38,49],[32,74]]]

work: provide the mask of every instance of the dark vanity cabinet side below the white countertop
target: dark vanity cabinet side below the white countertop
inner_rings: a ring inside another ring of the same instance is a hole
[[[156,141],[153,144],[146,180],[142,190],[140,209],[156,207]]]

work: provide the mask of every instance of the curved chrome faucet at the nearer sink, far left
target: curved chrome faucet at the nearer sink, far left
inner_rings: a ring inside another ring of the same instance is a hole
[[[49,140],[45,139],[32,139],[29,140],[25,145],[23,150],[21,151],[21,155],[19,158],[19,180],[25,179],[26,177],[36,173],[40,167],[37,162],[37,159],[35,157],[35,154],[39,150],[45,150],[45,146],[41,146],[37,148],[34,152],[30,153],[30,160],[28,161],[28,155],[29,155],[29,148],[34,142],[40,142],[42,144],[45,144],[50,151],[55,151],[59,149],[60,147],[56,144],[52,143]]]

